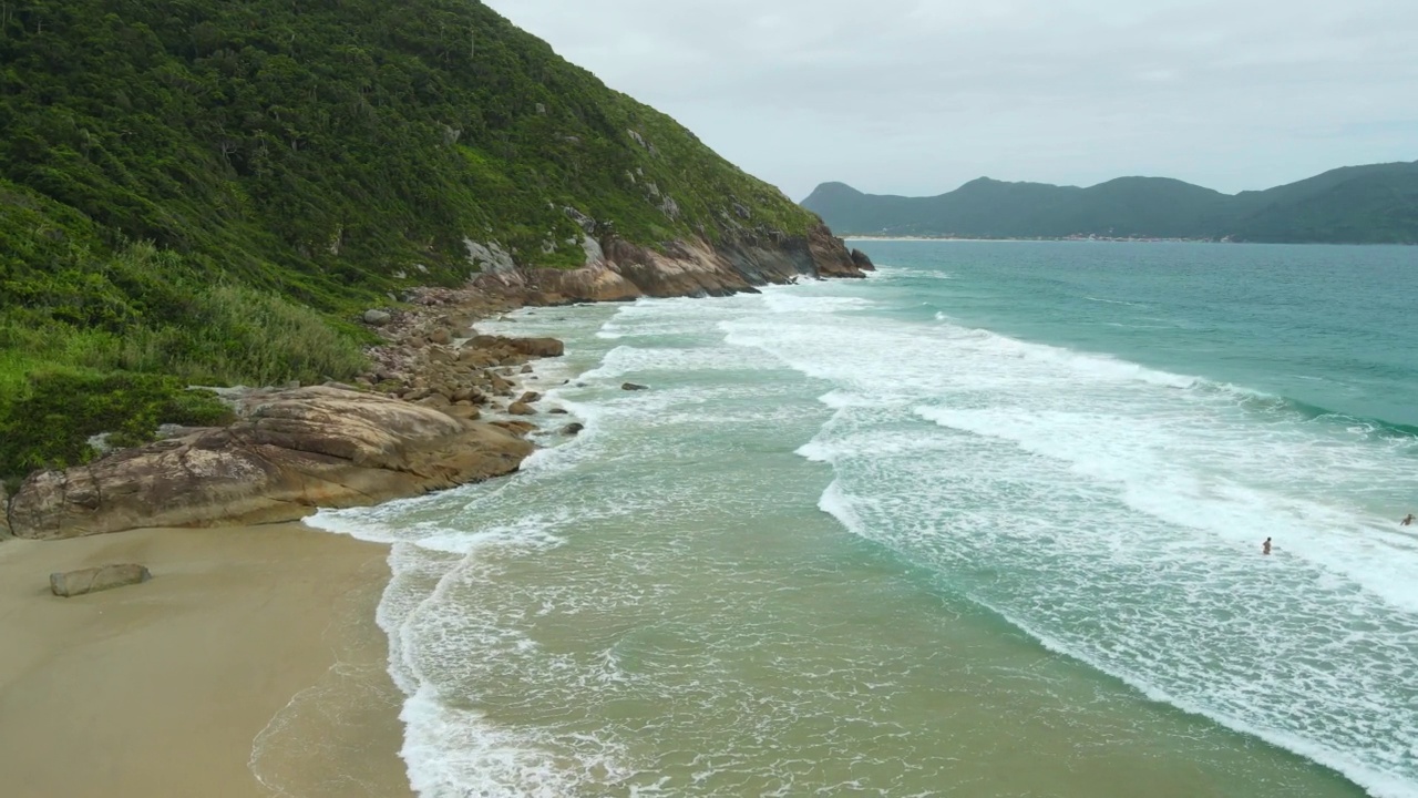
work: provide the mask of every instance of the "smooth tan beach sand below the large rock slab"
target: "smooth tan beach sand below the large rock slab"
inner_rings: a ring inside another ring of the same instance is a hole
[[[386,554],[301,525],[0,542],[0,792],[410,795]],[[153,581],[48,592],[111,562]]]

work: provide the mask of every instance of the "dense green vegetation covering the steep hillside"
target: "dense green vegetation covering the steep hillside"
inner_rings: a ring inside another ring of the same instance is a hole
[[[356,373],[347,319],[468,240],[569,267],[569,207],[654,246],[735,203],[811,220],[472,0],[3,0],[0,476]]]

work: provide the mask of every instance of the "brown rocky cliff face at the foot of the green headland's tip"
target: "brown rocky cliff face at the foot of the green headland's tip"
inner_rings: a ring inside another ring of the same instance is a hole
[[[805,236],[740,231],[720,243],[679,240],[664,251],[608,236],[587,244],[581,268],[515,268],[479,277],[479,288],[530,304],[614,302],[640,297],[726,297],[798,278],[866,277],[875,267],[825,224]]]

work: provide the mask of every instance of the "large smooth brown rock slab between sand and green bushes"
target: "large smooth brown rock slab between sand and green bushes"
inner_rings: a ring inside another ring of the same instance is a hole
[[[257,393],[240,415],[230,427],[33,474],[10,505],[14,534],[294,521],[502,476],[533,450],[498,426],[337,388]]]

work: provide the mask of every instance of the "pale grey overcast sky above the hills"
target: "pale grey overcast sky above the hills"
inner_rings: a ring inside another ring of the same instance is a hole
[[[488,4],[793,199],[1418,159],[1418,0]]]

